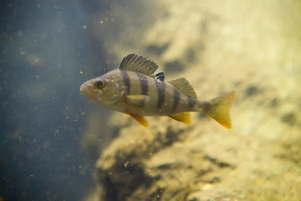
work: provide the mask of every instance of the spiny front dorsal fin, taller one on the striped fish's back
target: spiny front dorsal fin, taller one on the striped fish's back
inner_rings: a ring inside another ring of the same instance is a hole
[[[158,67],[159,66],[155,62],[150,61],[145,57],[138,56],[137,54],[128,54],[123,57],[118,68],[139,72],[153,77],[152,74],[158,69]]]

